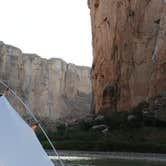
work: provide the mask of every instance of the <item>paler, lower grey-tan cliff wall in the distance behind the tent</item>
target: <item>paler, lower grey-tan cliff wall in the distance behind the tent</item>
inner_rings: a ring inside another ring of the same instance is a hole
[[[41,119],[72,120],[90,111],[88,67],[23,54],[20,49],[1,42],[0,78],[6,80]],[[12,102],[21,110],[16,101]]]

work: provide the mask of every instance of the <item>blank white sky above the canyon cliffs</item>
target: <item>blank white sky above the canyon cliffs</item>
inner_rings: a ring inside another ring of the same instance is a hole
[[[0,40],[24,53],[91,66],[87,0],[0,0]]]

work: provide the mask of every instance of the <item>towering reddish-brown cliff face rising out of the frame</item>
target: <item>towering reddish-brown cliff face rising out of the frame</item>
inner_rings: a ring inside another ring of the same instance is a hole
[[[166,90],[166,1],[88,0],[94,110],[123,111]]]

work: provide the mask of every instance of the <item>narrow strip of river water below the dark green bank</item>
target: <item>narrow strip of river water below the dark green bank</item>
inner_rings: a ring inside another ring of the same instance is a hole
[[[58,151],[65,166],[165,166],[166,154]],[[60,166],[53,152],[48,152]]]

